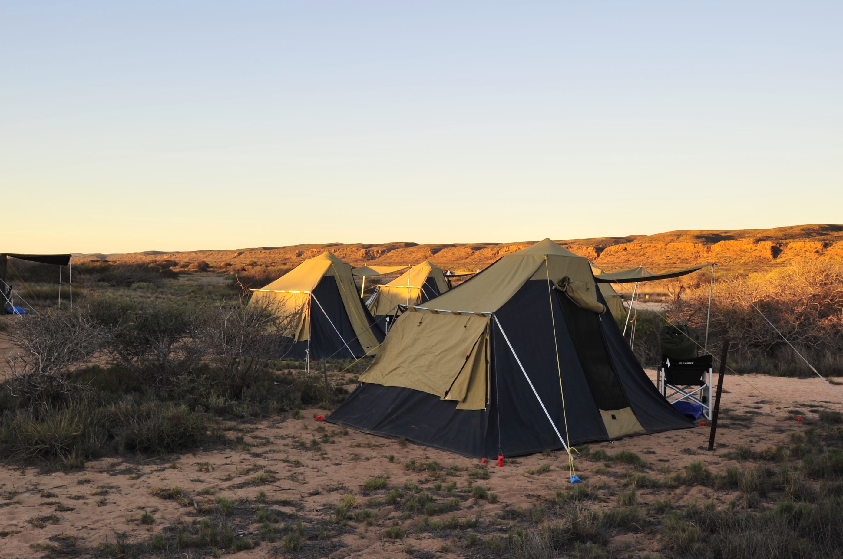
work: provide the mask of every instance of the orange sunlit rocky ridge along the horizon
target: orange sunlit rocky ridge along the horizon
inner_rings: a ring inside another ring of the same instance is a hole
[[[144,251],[127,254],[74,254],[77,260],[108,259],[115,263],[195,264],[207,262],[213,269],[270,266],[292,268],[306,258],[330,250],[349,264],[402,265],[430,259],[447,269],[485,268],[504,254],[529,247],[523,242],[470,242],[382,244],[329,242],[291,247],[198,250],[191,252]],[[774,229],[735,231],[673,231],[655,235],[629,235],[557,241],[573,253],[592,259],[606,269],[645,264],[658,271],[676,265],[716,261],[740,269],[769,269],[797,260],[821,258],[843,264],[843,225],[803,225]]]

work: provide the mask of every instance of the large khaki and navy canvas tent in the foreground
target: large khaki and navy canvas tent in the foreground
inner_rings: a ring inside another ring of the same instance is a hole
[[[472,457],[693,426],[604,311],[588,259],[507,254],[401,315],[329,421]]]

